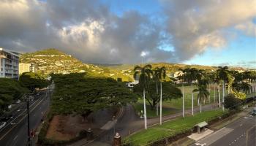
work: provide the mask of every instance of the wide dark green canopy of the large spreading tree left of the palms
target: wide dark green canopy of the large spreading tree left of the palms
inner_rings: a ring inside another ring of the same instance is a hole
[[[55,74],[53,112],[56,114],[82,115],[94,111],[135,102],[136,94],[112,78],[89,77],[86,74]]]

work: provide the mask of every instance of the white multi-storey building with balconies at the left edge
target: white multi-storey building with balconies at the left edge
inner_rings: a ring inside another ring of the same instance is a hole
[[[19,74],[18,53],[0,47],[0,77],[16,78]]]

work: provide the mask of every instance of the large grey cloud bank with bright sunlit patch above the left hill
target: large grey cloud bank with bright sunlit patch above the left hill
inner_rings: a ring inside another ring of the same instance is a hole
[[[143,50],[153,61],[172,55],[158,49],[162,28],[135,11],[120,17],[99,1],[83,0],[2,0],[0,7],[2,47],[20,52],[56,47],[102,64],[138,63]]]

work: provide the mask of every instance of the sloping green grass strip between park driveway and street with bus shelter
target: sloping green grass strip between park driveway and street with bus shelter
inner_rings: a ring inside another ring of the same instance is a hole
[[[225,113],[226,112],[222,112],[222,110],[211,110],[202,112],[201,114],[198,113],[195,116],[190,116],[185,119],[177,118],[176,120],[163,123],[162,126],[153,126],[147,130],[143,129],[138,133],[132,134],[129,137],[125,137],[123,144],[132,142],[134,145],[148,145],[149,143],[156,142],[159,139],[175,136],[176,134],[188,131],[197,123],[213,120]]]

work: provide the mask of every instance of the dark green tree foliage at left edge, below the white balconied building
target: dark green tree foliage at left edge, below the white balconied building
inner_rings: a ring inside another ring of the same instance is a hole
[[[0,113],[7,110],[13,101],[20,99],[28,91],[17,80],[0,78]]]

